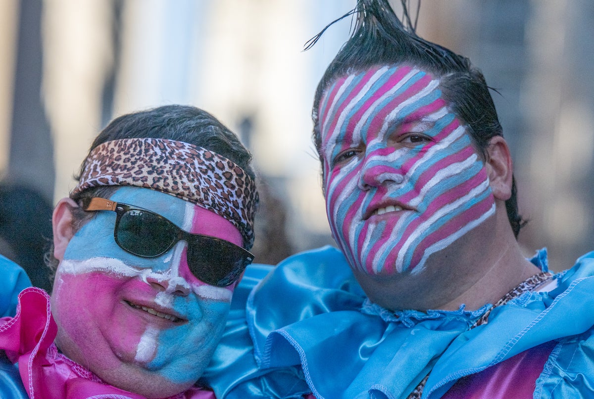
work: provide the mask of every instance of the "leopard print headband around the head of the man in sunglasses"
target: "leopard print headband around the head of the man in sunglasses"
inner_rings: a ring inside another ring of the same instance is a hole
[[[128,138],[97,145],[71,195],[96,186],[138,186],[193,202],[229,220],[245,248],[254,244],[258,192],[241,167],[196,145],[160,138]]]

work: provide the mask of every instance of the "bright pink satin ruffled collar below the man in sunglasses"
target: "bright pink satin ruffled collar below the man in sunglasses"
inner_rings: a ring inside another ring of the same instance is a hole
[[[18,362],[24,387],[31,399],[146,399],[105,384],[83,366],[59,353],[53,343],[58,328],[50,311],[48,294],[36,287],[18,295],[17,315],[0,319],[0,350]],[[169,399],[215,399],[200,388]]]

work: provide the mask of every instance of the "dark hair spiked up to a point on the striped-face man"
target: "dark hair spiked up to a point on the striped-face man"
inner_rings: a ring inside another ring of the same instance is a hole
[[[355,15],[355,28],[326,69],[315,91],[312,110],[313,139],[322,167],[324,163],[318,109],[324,91],[338,78],[373,66],[416,66],[440,78],[443,99],[467,126],[476,148],[484,158],[488,156],[486,148],[491,138],[503,136],[497,110],[482,72],[468,58],[417,36],[404,1],[403,9],[405,23],[394,13],[388,0],[358,0],[355,9],[336,20]],[[330,25],[311,39],[306,48],[314,45]],[[526,221],[518,213],[514,178],[511,197],[505,201],[505,208],[517,238]]]

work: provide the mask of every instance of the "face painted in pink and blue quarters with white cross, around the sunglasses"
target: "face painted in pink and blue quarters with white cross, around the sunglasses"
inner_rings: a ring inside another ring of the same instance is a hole
[[[122,187],[110,199],[158,213],[187,232],[242,245],[229,221],[172,195]],[[129,254],[113,239],[115,219],[115,212],[97,212],[68,243],[52,295],[56,342],[106,382],[131,390],[118,376],[138,375],[154,382],[153,395],[165,397],[200,377],[225,326],[234,286],[194,277],[183,241],[157,258]]]

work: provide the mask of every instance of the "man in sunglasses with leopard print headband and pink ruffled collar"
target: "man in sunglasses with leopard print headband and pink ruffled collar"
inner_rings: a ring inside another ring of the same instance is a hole
[[[112,121],[55,207],[51,298],[24,290],[0,324],[14,397],[213,398],[196,383],[254,258],[250,161],[194,107]]]

